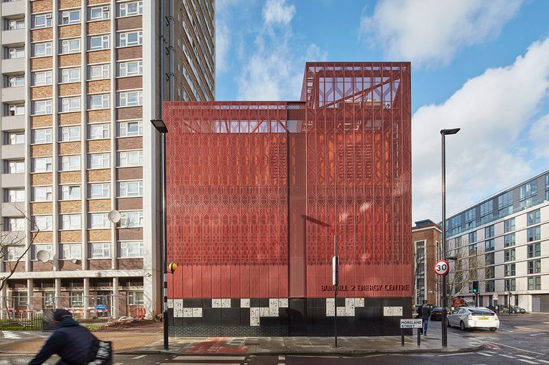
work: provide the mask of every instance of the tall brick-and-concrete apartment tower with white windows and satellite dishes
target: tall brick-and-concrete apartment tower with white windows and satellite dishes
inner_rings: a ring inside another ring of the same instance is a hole
[[[159,313],[150,120],[213,99],[214,1],[0,5],[2,308]]]

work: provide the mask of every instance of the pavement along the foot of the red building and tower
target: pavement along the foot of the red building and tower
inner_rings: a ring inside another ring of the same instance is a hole
[[[434,326],[433,326],[434,327]],[[438,327],[438,326],[437,326]],[[0,353],[37,353],[48,333],[38,331],[0,331]],[[441,329],[430,329],[428,336],[417,333],[404,336],[338,337],[170,337],[170,347],[163,349],[162,333],[128,331],[94,332],[100,340],[112,341],[115,353],[178,355],[365,355],[372,353],[426,353],[477,351],[483,344],[474,338],[448,333],[448,346],[441,344]]]

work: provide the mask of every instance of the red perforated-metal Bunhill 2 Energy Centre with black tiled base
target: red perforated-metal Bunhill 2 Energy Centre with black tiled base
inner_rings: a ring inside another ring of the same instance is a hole
[[[300,101],[164,110],[172,335],[329,336],[336,311],[342,336],[399,333],[412,315],[408,62],[309,62]]]

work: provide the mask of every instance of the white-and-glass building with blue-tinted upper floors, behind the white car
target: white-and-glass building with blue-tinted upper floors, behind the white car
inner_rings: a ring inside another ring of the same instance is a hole
[[[450,294],[474,299],[478,280],[480,305],[549,312],[549,171],[467,207],[445,227],[449,255],[458,257]]]

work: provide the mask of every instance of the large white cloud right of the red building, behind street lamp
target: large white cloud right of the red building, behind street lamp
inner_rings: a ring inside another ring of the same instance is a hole
[[[414,221],[441,219],[441,129],[461,128],[446,138],[447,216],[545,167],[532,158],[537,144],[524,148],[522,139],[549,139],[549,117],[533,121],[548,90],[546,38],[511,66],[469,79],[443,104],[419,108],[412,117]]]

